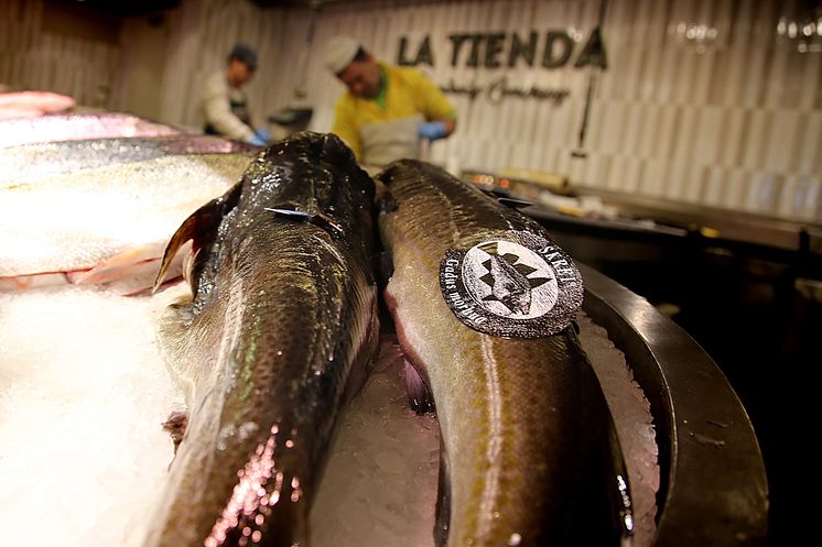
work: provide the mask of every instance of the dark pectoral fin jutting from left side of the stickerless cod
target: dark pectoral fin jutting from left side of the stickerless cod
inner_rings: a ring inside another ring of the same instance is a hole
[[[223,220],[223,217],[225,217],[226,214],[237,205],[241,189],[242,180],[235,184],[220,197],[212,199],[203,207],[192,212],[188,218],[183,221],[180,228],[177,228],[177,231],[174,232],[174,236],[171,237],[169,244],[165,247],[163,261],[160,264],[160,271],[154,280],[152,292],[156,292],[160,285],[162,285],[172,260],[184,243],[190,240],[193,241],[192,253],[195,254],[204,247],[212,247],[220,220]],[[197,267],[197,264],[194,261],[190,264],[192,269]],[[195,278],[195,275],[192,275],[191,272],[188,272],[186,278],[190,280],[191,283]],[[192,289],[196,293],[197,287],[195,284],[192,284]]]

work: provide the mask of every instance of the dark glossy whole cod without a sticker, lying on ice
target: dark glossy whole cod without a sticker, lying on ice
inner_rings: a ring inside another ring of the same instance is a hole
[[[160,339],[192,411],[147,546],[310,545],[338,409],[379,337],[372,200],[339,139],[300,133],[172,238],[164,265],[193,239],[194,297]]]

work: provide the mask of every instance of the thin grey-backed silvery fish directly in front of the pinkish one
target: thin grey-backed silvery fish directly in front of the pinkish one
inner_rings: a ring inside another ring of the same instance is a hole
[[[0,154],[0,188],[45,175],[140,162],[164,155],[250,154],[257,150],[255,146],[218,136],[188,134],[22,144],[10,146]]]

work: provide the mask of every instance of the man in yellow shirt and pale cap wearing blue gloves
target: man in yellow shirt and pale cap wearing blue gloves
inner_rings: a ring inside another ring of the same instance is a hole
[[[419,70],[378,62],[346,36],[328,42],[325,64],[348,88],[337,100],[332,132],[360,163],[379,166],[418,157],[423,140],[454,132],[454,107]]]

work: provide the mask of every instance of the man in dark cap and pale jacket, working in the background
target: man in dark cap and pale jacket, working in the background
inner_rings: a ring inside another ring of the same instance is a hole
[[[264,128],[255,129],[241,89],[256,69],[257,52],[238,43],[228,55],[228,66],[208,77],[201,102],[206,133],[260,146],[268,144],[270,134]]]

